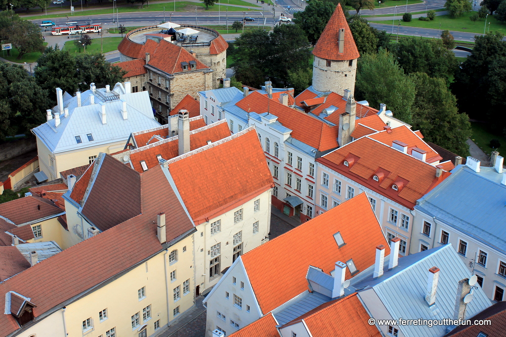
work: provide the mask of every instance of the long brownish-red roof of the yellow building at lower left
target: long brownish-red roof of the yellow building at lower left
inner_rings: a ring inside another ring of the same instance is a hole
[[[0,307],[14,291],[31,298],[39,317],[144,259],[161,252],[156,214],[165,212],[167,242],[193,230],[161,168],[142,175],[143,214],[78,243],[0,283]],[[118,239],[120,238],[120,239]],[[55,291],[57,289],[58,291]],[[0,335],[19,329],[12,315],[0,315]]]

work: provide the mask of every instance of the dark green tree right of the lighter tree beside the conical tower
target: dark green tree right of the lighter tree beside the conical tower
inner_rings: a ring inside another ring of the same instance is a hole
[[[458,113],[457,100],[446,82],[425,73],[414,73],[410,78],[415,84],[413,130],[419,129],[425,140],[448,151],[469,156],[466,143],[472,134],[469,117]]]

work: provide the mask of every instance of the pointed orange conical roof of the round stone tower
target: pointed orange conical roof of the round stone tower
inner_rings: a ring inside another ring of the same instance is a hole
[[[345,30],[342,53],[339,52],[339,31],[341,28]],[[335,61],[355,60],[360,56],[341,4],[338,4],[328,20],[318,42],[316,42],[313,55],[320,59]]]

